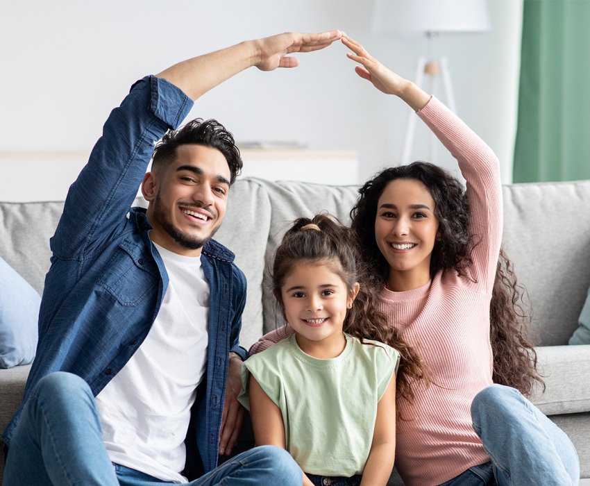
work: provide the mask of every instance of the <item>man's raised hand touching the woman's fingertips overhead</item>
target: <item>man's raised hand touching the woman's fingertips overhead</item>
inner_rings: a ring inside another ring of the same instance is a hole
[[[299,65],[299,60],[287,54],[318,51],[328,47],[340,37],[342,37],[340,31],[319,34],[286,32],[255,40],[253,41],[257,49],[255,66],[261,71],[272,71],[277,67],[296,67]]]

